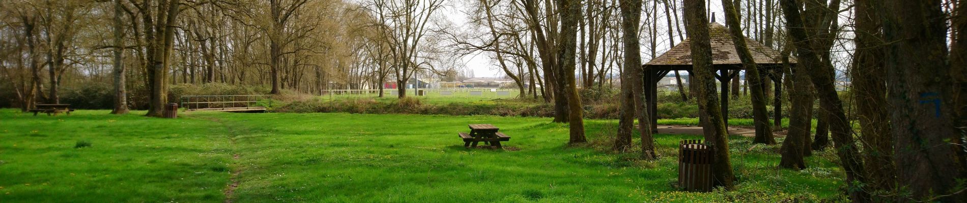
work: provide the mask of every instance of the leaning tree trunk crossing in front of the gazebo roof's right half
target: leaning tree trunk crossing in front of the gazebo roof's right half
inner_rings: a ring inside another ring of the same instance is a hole
[[[761,88],[764,78],[762,78],[762,74],[759,74],[761,70],[759,65],[752,60],[752,54],[748,51],[746,38],[742,35],[742,27],[739,27],[741,21],[739,21],[739,14],[734,7],[735,4],[738,4],[738,0],[735,2],[732,2],[732,0],[722,0],[725,16],[728,19],[725,22],[728,24],[729,33],[732,34],[732,43],[735,44],[739,59],[746,69],[746,78],[750,83],[749,85],[752,86],[752,114],[755,122],[755,139],[752,142],[774,144],[776,143],[776,138],[773,136],[773,131],[769,123],[769,112],[766,110],[767,100]],[[738,78],[735,81],[738,82]],[[722,85],[724,86],[724,84]],[[733,90],[739,90],[737,85],[738,83],[732,85]],[[738,96],[738,94],[733,95]]]

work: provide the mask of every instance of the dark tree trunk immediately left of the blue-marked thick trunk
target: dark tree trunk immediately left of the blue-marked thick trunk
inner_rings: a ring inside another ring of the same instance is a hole
[[[894,142],[890,134],[890,114],[887,104],[887,71],[883,67],[883,38],[881,19],[875,11],[875,1],[856,0],[856,53],[853,59],[853,96],[857,117],[863,128],[860,139],[864,144],[870,190],[890,191],[896,182],[893,162]],[[878,201],[887,201],[881,199]]]

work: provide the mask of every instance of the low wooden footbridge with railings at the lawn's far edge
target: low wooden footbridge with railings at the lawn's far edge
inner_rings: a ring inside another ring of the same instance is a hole
[[[186,95],[179,101],[186,112],[261,113],[272,106],[269,95]]]

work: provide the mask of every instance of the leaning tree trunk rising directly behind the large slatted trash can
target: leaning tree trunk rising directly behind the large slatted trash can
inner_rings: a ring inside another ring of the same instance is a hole
[[[735,175],[729,161],[728,132],[715,90],[715,68],[712,65],[712,43],[709,37],[709,19],[705,15],[705,1],[685,0],[685,16],[689,21],[686,28],[691,38],[689,45],[698,109],[706,117],[703,119],[705,140],[712,144],[715,153],[712,165],[715,184],[731,189],[735,186]]]

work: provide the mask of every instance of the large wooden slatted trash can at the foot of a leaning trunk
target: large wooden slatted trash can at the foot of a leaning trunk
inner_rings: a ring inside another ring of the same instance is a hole
[[[678,186],[689,191],[711,191],[712,146],[702,140],[682,140],[678,145]]]

